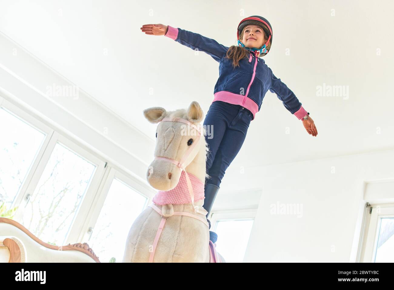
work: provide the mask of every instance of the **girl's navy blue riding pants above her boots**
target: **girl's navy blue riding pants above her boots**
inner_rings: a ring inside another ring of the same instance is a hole
[[[227,167],[240,151],[253,114],[240,105],[213,102],[204,119],[209,155],[206,170],[211,176],[205,183],[220,187]]]

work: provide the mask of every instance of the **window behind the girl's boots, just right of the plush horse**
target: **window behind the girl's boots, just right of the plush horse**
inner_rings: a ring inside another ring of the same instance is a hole
[[[255,214],[255,209],[212,212],[211,231],[217,234],[216,249],[226,262],[243,262]]]

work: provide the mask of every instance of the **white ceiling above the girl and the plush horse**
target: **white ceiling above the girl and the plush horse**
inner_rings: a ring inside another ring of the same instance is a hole
[[[394,148],[393,2],[255,3],[0,0],[0,31],[154,142],[142,111],[195,100],[206,113],[218,63],[140,27],[162,23],[230,46],[239,21],[261,15],[273,26],[266,64],[310,112],[318,136],[268,92],[231,169]],[[316,96],[323,83],[349,86],[349,98]]]

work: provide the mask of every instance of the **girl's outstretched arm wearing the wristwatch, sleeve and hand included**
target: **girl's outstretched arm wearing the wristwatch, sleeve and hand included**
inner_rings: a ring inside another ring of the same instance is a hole
[[[281,79],[278,79],[273,74],[271,68],[269,68],[269,71],[271,72],[272,81],[272,85],[271,88],[269,88],[269,91],[277,95],[279,100],[282,101],[284,107],[288,111],[290,111],[290,113],[294,114],[299,120],[302,119],[303,126],[310,135],[318,135],[318,131],[312,118],[309,117],[308,120],[303,120],[303,117],[305,117],[308,112],[302,107],[302,104],[299,102],[294,92],[292,92],[286,86],[286,84],[281,81]]]

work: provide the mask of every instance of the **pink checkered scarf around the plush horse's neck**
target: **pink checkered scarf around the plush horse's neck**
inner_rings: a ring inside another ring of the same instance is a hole
[[[194,192],[194,201],[204,199],[204,183],[197,176],[190,173],[188,175]],[[182,170],[178,185],[175,188],[167,191],[159,190],[153,197],[152,202],[158,205],[191,203],[185,171]]]

